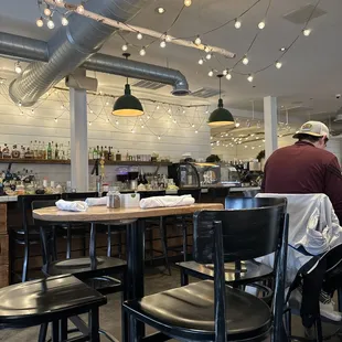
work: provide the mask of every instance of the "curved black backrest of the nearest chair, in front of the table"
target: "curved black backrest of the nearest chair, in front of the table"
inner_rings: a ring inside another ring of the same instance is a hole
[[[286,199],[229,197],[225,206],[225,211],[201,211],[194,214],[195,261],[214,263],[215,222],[222,223],[225,263],[253,259],[278,249]]]

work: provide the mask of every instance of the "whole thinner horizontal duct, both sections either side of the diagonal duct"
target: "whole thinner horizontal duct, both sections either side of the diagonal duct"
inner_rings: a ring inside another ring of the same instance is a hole
[[[30,61],[49,62],[46,42],[20,35],[3,34],[0,32],[0,52],[6,56],[14,56],[19,60],[29,58]],[[96,53],[88,57],[82,66],[94,72],[104,72],[125,77],[168,84],[173,86],[172,94],[175,96],[190,94],[185,76],[181,72],[172,68],[136,61],[126,61],[120,57],[108,56],[100,53]]]

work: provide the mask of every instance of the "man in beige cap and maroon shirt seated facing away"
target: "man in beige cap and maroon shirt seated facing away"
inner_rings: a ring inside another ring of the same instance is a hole
[[[342,222],[342,175],[336,157],[327,151],[329,129],[320,121],[308,121],[301,126],[293,138],[298,141],[276,150],[265,164],[261,191],[265,193],[312,194],[324,193],[329,196],[335,214]],[[336,256],[335,256],[336,257]],[[341,258],[329,260],[339,264]],[[311,274],[314,284],[316,275]],[[342,285],[341,271],[335,272],[333,281],[323,281],[320,291],[321,314],[340,321],[340,312],[333,311],[331,297]],[[328,314],[327,314],[328,312]]]

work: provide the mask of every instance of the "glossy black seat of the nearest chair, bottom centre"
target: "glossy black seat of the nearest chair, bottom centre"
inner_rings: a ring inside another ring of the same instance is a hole
[[[169,325],[175,338],[195,336],[196,341],[215,341],[215,300],[212,280],[146,296],[141,300],[126,301],[124,306],[135,311],[147,324],[150,323],[150,319],[153,320],[153,328],[157,330],[164,331]],[[270,308],[265,302],[249,293],[226,287],[228,341],[242,340],[244,334],[252,331],[255,335],[264,335],[269,331],[271,321]],[[159,329],[159,324],[163,329]],[[189,336],[186,330],[191,330]]]

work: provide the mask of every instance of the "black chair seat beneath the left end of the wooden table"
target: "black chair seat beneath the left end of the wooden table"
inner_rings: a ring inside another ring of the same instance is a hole
[[[125,270],[126,266],[127,263],[118,258],[98,256],[96,261],[92,263],[89,257],[84,257],[51,261],[43,266],[43,272],[49,276],[72,274],[77,278],[89,278],[92,272],[96,272],[96,276],[100,275],[100,270],[104,270],[105,274],[120,272]]]

